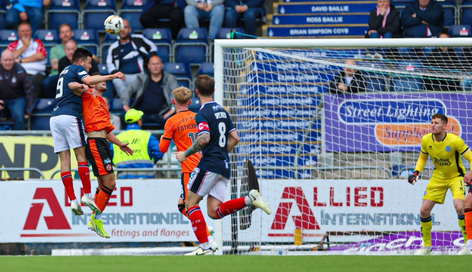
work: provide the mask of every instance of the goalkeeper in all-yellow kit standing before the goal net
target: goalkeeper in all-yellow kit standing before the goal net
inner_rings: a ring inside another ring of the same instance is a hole
[[[414,255],[431,254],[431,210],[436,203],[444,204],[447,190],[450,189],[454,197],[454,207],[459,219],[459,226],[467,242],[464,221],[465,168],[461,156],[472,162],[472,152],[461,137],[445,131],[447,116],[435,114],[431,116],[431,133],[421,140],[421,154],[416,163],[415,172],[408,177],[408,182],[414,184],[418,174],[423,170],[428,156],[434,163],[434,172],[424,191],[421,205],[421,236],[423,247]]]

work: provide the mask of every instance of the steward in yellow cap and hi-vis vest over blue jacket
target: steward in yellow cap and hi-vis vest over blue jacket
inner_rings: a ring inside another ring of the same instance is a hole
[[[129,143],[129,147],[135,150],[132,156],[126,155],[115,144],[111,145],[113,165],[117,168],[152,168],[154,164],[164,156],[160,152],[159,140],[151,132],[141,129],[143,125],[143,112],[134,108],[125,114],[126,130],[116,137],[122,142]],[[114,152],[118,150],[118,152]],[[118,172],[118,179],[155,178],[155,172]]]

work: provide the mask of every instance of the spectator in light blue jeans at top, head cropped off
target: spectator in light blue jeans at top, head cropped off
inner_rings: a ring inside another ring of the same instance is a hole
[[[184,9],[185,25],[189,28],[200,27],[198,20],[210,19],[210,31],[208,37],[214,40],[218,29],[223,25],[225,16],[224,0],[186,0]]]

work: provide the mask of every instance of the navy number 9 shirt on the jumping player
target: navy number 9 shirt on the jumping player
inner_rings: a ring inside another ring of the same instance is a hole
[[[56,89],[56,105],[54,105],[51,116],[72,115],[80,118],[82,99],[70,90],[69,83],[78,82],[83,84],[82,79],[88,75],[84,66],[74,64],[67,66],[60,72]]]

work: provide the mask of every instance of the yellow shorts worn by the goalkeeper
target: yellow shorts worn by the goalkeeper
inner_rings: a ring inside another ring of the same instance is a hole
[[[446,200],[447,190],[451,189],[454,199],[465,199],[465,184],[464,177],[456,177],[449,180],[441,180],[431,177],[426,190],[424,191],[423,199],[434,201],[438,204],[444,204]]]

